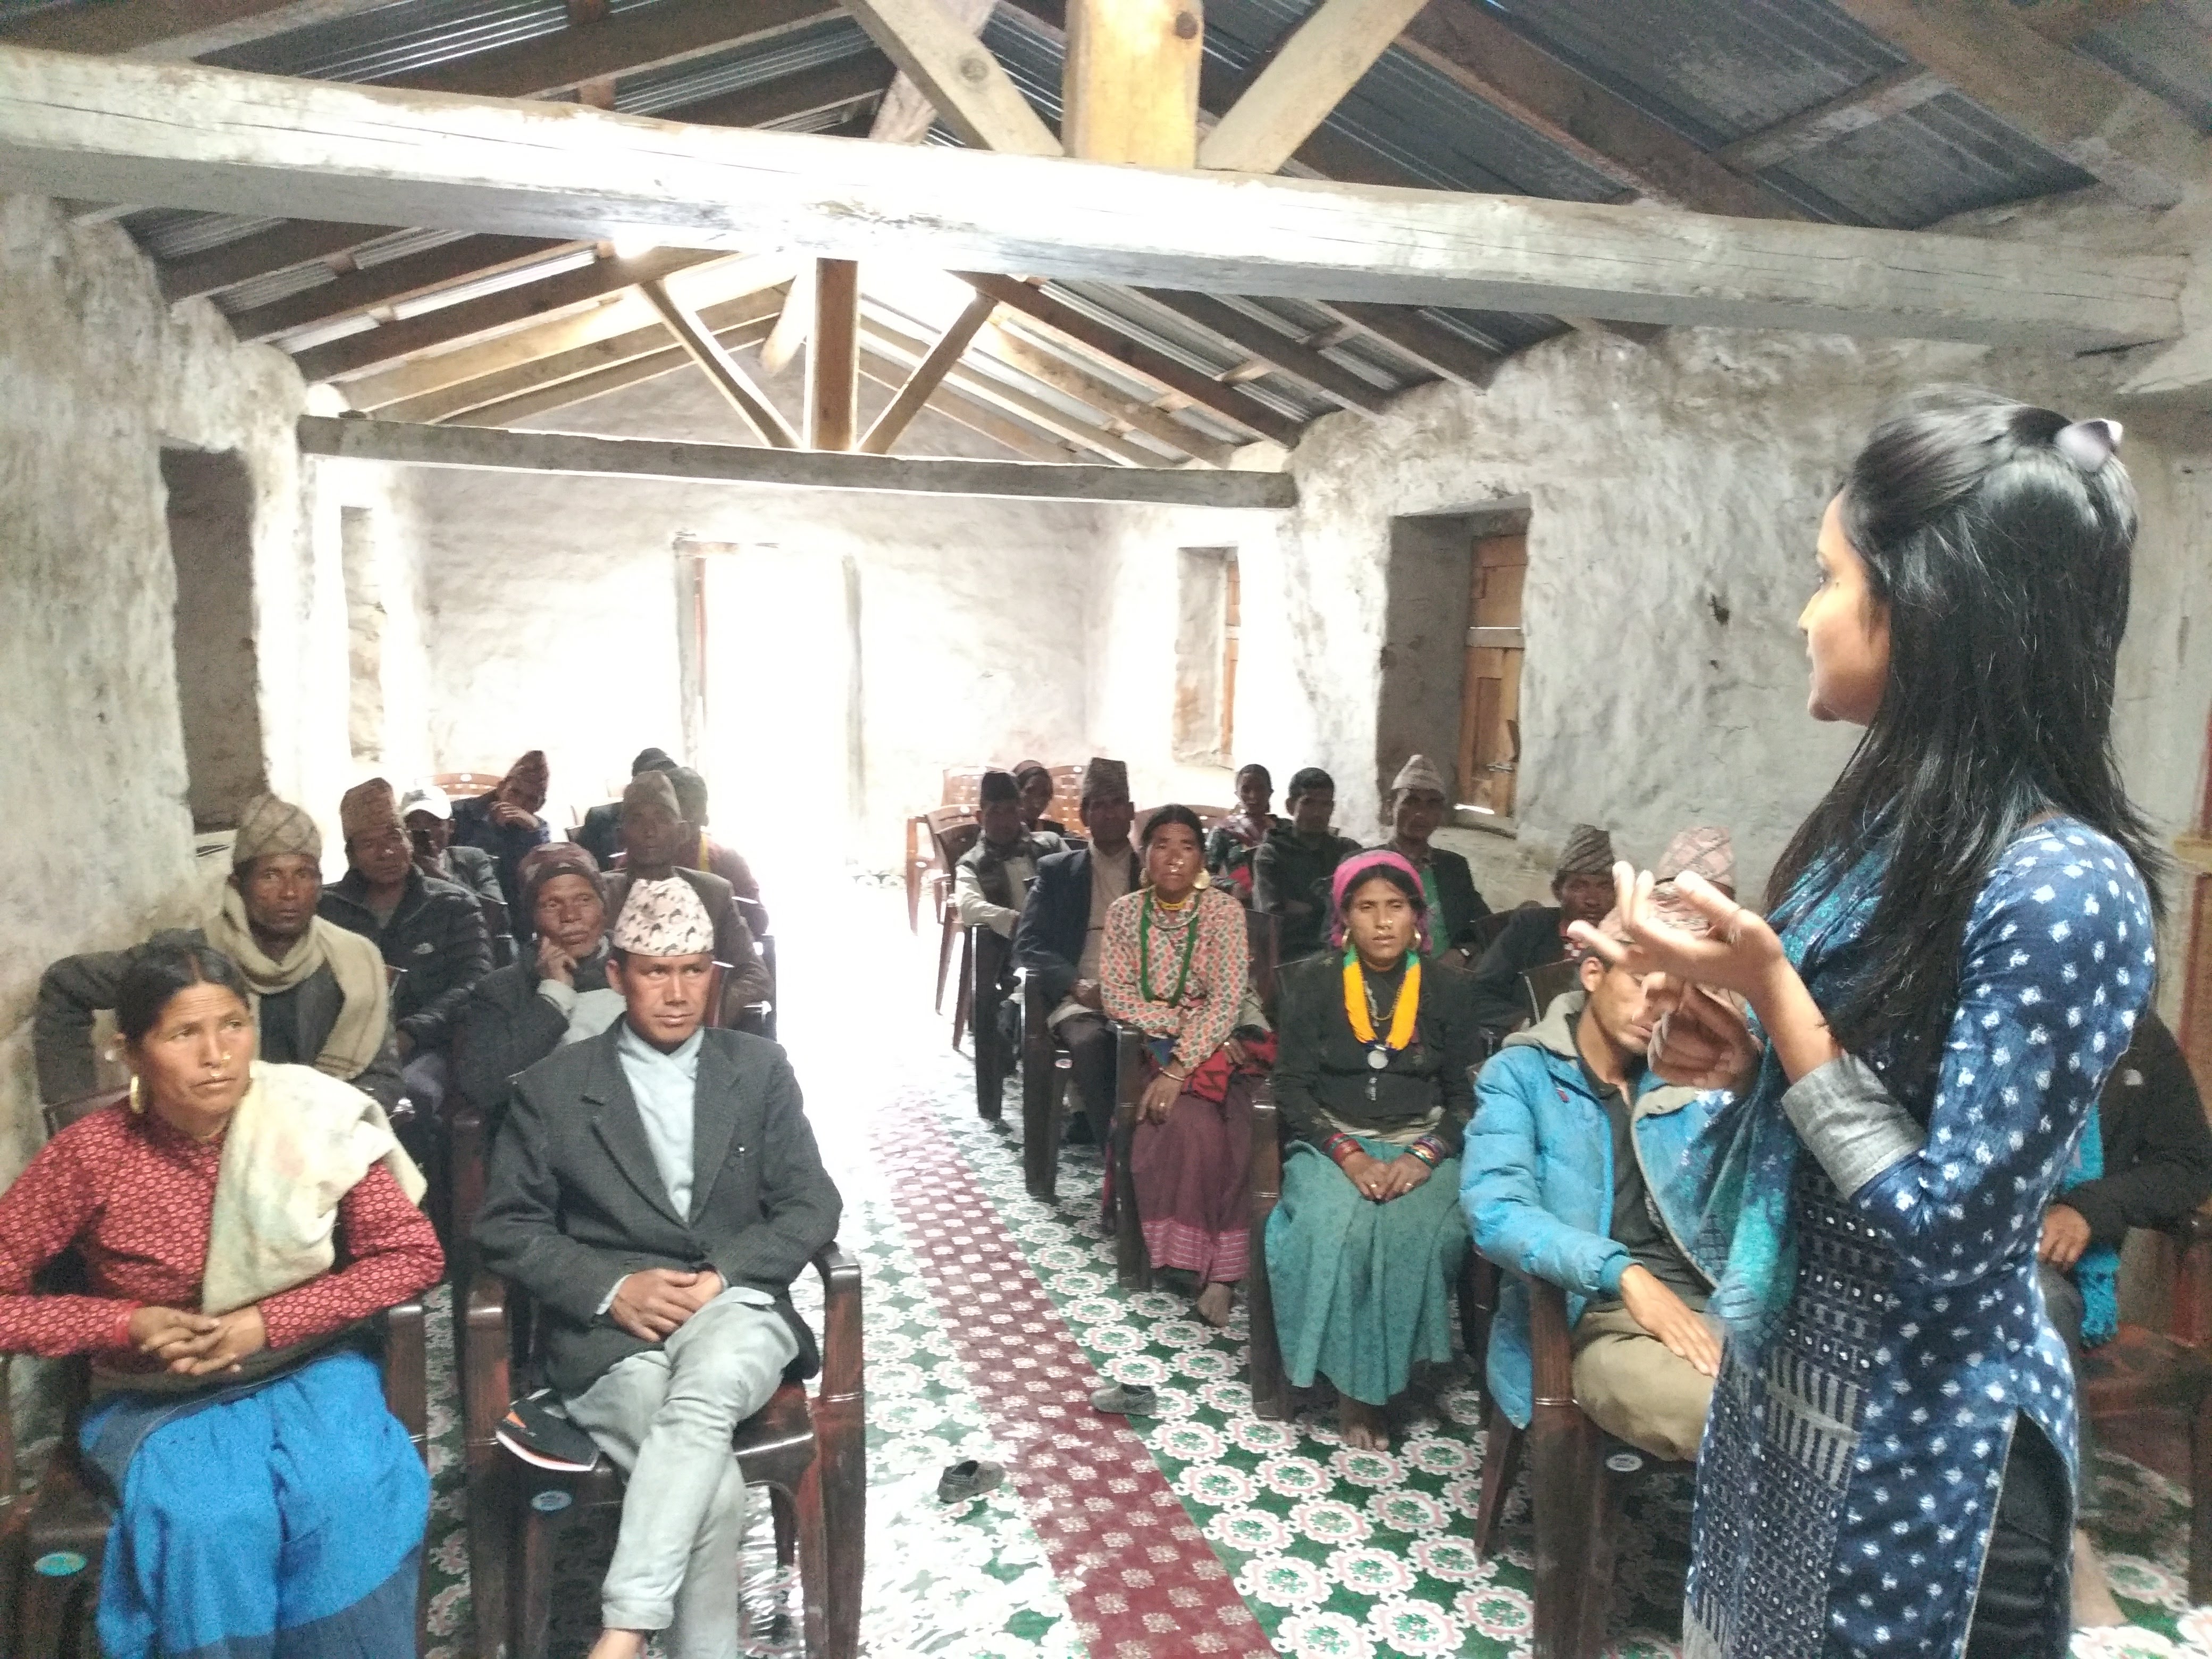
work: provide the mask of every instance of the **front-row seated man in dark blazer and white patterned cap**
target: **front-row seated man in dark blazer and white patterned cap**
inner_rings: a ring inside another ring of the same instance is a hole
[[[836,1237],[783,1051],[708,1026],[714,925],[635,880],[606,982],[622,1020],[515,1079],[476,1241],[551,1318],[546,1380],[630,1475],[591,1659],[734,1659],[745,1482],[730,1433],[818,1367],[790,1285]]]

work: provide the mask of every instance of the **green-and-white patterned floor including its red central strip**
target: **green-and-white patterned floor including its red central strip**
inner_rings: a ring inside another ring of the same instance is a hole
[[[1004,1128],[980,1121],[945,1026],[916,1020],[911,1031],[911,1044],[878,1048],[872,1068],[790,1033],[810,1117],[847,1194],[843,1241],[865,1270],[865,1652],[1526,1652],[1526,1504],[1509,1511],[1491,1562],[1469,1546],[1482,1460],[1473,1380],[1431,1378],[1389,1453],[1347,1451],[1325,1413],[1261,1422],[1243,1376],[1241,1312],[1212,1332],[1175,1290],[1119,1290],[1097,1221],[1095,1155],[1064,1155],[1055,1206],[1029,1199],[1018,1086]],[[473,1644],[458,1422],[440,1387],[451,1327],[438,1318],[431,1332],[429,1659],[462,1659]],[[1157,1387],[1159,1420],[1135,1425],[1135,1436],[1097,1420],[1084,1402],[1097,1376]],[[940,1506],[938,1473],[960,1458],[1004,1462],[1011,1478],[982,1500]],[[2212,1608],[2192,1610],[2185,1595],[2185,1493],[2104,1455],[2099,1498],[2099,1544],[2135,1626],[2084,1632],[2073,1652],[2212,1659]],[[1632,1500],[1610,1652],[1674,1652],[1688,1513],[1686,1482],[1655,1480]],[[757,1526],[748,1548],[748,1652],[792,1655],[794,1588],[765,1535]],[[580,1535],[562,1553],[555,1659],[575,1659],[588,1641],[606,1542]]]

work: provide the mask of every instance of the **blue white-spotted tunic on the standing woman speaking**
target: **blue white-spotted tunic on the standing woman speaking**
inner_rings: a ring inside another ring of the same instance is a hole
[[[1783,1102],[1812,1155],[1754,1155],[1754,1188],[1787,1181],[1794,1283],[1756,1340],[1732,1334],[1714,1389],[1688,1659],[1960,1655],[2020,1416],[2073,1469],[2035,1245],[2150,993],[2128,856],[2070,818],[2024,832],[1962,964],[1927,1128],[1847,1055]],[[2064,1619],[2055,1597],[2051,1652]]]

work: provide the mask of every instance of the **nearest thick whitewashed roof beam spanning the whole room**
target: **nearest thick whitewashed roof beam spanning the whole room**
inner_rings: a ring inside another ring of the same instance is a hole
[[[1155,173],[7,46],[0,184],[1199,292],[2088,347],[2177,336],[2188,272],[2059,243]]]

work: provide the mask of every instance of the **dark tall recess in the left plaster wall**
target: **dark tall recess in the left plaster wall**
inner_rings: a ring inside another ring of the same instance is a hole
[[[177,566],[177,706],[195,830],[268,790],[254,657],[254,484],[234,449],[161,449]]]

